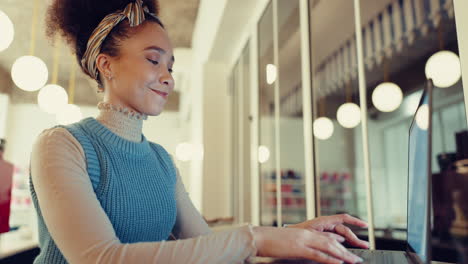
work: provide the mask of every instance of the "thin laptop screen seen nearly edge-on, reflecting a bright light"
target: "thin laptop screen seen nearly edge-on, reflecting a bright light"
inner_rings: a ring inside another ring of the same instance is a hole
[[[409,132],[408,164],[408,246],[423,263],[428,262],[428,210],[430,131],[432,107],[428,87],[421,98]]]

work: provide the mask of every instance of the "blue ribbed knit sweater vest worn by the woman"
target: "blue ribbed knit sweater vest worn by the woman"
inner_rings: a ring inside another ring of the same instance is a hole
[[[65,128],[84,149],[97,199],[120,241],[166,240],[177,215],[176,170],[166,150],[148,142],[144,136],[140,143],[125,140],[94,118]],[[30,183],[41,248],[34,263],[67,263],[44,223],[31,177]]]

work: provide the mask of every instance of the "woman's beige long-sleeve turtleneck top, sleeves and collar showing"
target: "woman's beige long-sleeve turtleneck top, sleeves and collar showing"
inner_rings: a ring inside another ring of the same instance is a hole
[[[100,105],[97,120],[128,140],[142,120]],[[69,263],[242,263],[255,256],[252,226],[212,233],[177,171],[175,241],[124,244],[93,191],[80,143],[65,128],[45,130],[31,155],[31,175],[45,224]]]

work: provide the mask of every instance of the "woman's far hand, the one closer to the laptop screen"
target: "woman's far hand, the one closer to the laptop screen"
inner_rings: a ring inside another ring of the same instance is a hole
[[[366,222],[348,214],[321,216],[299,224],[289,225],[288,227],[302,228],[310,231],[319,231],[324,233],[333,232],[334,234],[341,236],[343,240],[346,239],[346,241],[352,246],[369,248],[369,243],[367,241],[360,240],[351,231],[351,229],[349,229],[344,224],[358,227],[367,227]]]

